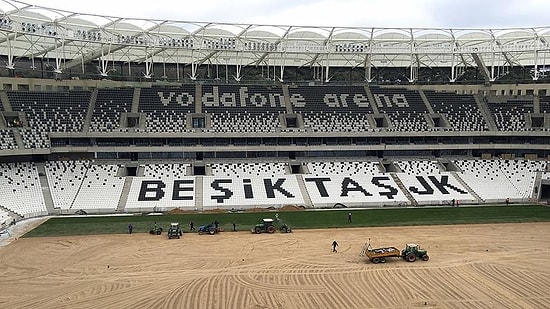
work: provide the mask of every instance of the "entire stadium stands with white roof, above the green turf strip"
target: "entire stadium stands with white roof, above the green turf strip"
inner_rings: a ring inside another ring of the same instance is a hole
[[[550,195],[547,28],[0,9],[0,211],[14,217]]]

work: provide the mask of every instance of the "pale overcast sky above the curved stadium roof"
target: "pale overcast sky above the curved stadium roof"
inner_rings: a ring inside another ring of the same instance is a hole
[[[550,0],[22,0],[66,10],[270,25],[509,28],[550,26]]]

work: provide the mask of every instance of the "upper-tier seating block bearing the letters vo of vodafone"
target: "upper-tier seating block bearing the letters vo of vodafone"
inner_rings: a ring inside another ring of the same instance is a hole
[[[190,132],[186,116],[195,112],[195,85],[141,88],[138,110],[146,113],[147,132]]]

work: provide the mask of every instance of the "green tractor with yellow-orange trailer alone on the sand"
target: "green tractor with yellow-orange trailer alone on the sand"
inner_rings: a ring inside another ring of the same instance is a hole
[[[417,244],[407,244],[405,249],[399,251],[396,247],[372,248],[370,239],[363,245],[359,256],[366,256],[374,264],[386,263],[386,258],[398,257],[406,261],[414,262],[416,259],[427,261],[430,259],[427,250],[420,249]]]

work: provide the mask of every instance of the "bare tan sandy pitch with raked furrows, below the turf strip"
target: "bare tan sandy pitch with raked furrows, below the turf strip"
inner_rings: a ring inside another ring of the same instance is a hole
[[[368,238],[430,261],[366,262]],[[550,223],[18,239],[0,307],[550,308],[549,239]]]

